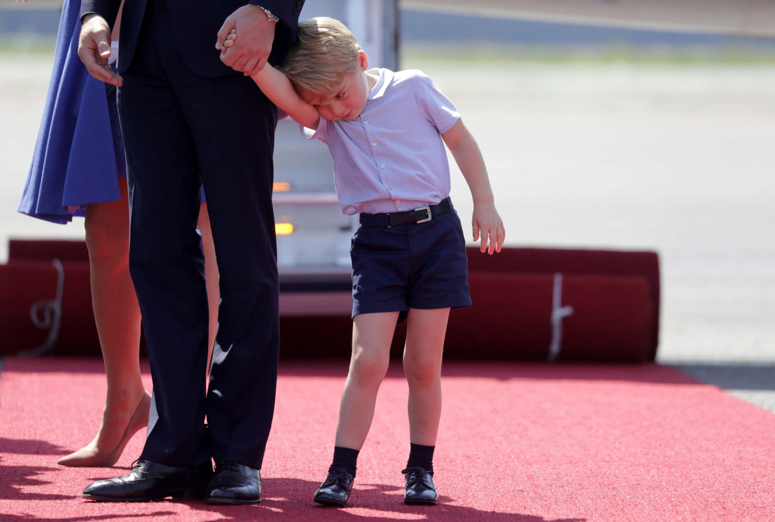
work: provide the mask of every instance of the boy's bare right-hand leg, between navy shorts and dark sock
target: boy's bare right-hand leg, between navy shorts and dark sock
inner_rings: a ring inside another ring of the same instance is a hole
[[[441,359],[449,308],[410,308],[404,372],[409,383],[409,440],[435,446],[441,418]]]

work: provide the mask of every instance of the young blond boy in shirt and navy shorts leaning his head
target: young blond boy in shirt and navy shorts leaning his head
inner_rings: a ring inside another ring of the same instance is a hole
[[[232,31],[226,46],[236,40]],[[225,50],[225,48],[223,48]],[[449,200],[449,147],[474,197],[474,241],[500,252],[505,228],[474,136],[419,70],[369,69],[350,30],[330,18],[298,24],[282,72],[253,76],[271,101],[329,146],[343,213],[360,213],[353,261],[353,355],[329,474],[314,500],[343,507],[374,417],[395,325],[408,321],[404,369],[411,448],[405,503],[436,504],[433,451],[449,309],[470,305],[463,228]],[[439,137],[440,135],[440,137]]]

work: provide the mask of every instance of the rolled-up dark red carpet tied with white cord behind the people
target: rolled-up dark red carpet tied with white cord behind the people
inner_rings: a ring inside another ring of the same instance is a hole
[[[654,359],[660,311],[656,253],[507,248],[487,256],[469,248],[468,257],[474,304],[450,315],[447,357]],[[62,270],[54,258],[62,262]],[[9,319],[0,327],[0,335],[8,340],[0,352],[53,344],[58,354],[98,355],[84,243],[12,241],[9,259],[9,265],[0,266],[5,289],[0,314]],[[64,293],[57,312],[50,301],[60,280]],[[346,285],[342,291],[346,293]],[[40,320],[30,318],[33,307],[39,309]],[[45,314],[49,321],[43,321]],[[346,313],[283,316],[283,356],[346,356],[351,330]],[[400,358],[404,338],[405,327],[398,328],[394,357]]]

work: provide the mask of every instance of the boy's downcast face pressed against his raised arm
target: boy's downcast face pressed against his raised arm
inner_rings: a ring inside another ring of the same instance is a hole
[[[363,51],[360,51],[358,59],[360,70],[347,73],[339,88],[332,94],[319,94],[305,88],[298,88],[301,98],[317,108],[320,115],[327,120],[355,119],[360,116],[369,98],[366,77],[369,60]]]

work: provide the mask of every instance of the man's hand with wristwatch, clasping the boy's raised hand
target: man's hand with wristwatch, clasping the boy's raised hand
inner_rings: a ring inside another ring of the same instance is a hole
[[[226,39],[232,29],[239,33],[239,43],[229,46]],[[215,49],[221,51],[221,61],[245,76],[258,74],[267,64],[267,58],[274,41],[274,22],[267,19],[266,13],[257,5],[243,5],[232,12],[223,22],[218,32]],[[226,49],[226,52],[223,50]]]

